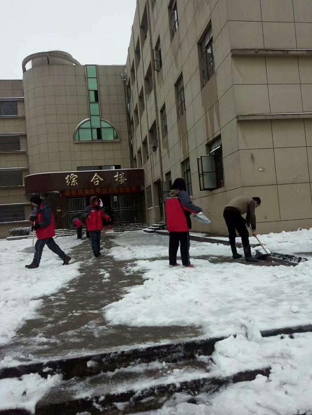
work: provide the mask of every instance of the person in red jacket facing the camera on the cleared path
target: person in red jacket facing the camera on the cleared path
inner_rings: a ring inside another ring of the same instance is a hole
[[[85,219],[87,231],[90,233],[94,256],[99,256],[101,254],[99,251],[101,249],[102,219],[110,221],[111,218],[103,212],[97,196],[90,198],[90,205],[84,210],[82,216]]]

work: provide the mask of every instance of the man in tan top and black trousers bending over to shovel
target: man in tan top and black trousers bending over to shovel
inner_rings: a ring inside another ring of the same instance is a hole
[[[257,262],[251,254],[251,248],[249,245],[249,232],[246,227],[251,225],[253,236],[257,235],[256,232],[256,220],[255,220],[255,208],[260,206],[261,199],[258,197],[250,198],[248,196],[240,196],[229,201],[223,211],[223,217],[228,227],[229,240],[233,253],[233,258],[241,258],[242,255],[236,251],[236,231],[242,238],[242,244],[244,248],[245,260],[247,262]],[[242,217],[246,215],[246,220]]]

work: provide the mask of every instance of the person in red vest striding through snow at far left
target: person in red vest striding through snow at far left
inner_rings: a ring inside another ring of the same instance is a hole
[[[32,269],[39,267],[42,251],[45,245],[52,252],[59,255],[59,257],[63,260],[63,265],[68,265],[72,258],[66,255],[66,253],[59,248],[59,245],[53,239],[53,236],[55,236],[55,226],[51,206],[48,203],[45,203],[39,195],[32,195],[29,200],[34,207],[29,220],[33,222],[32,230],[36,231],[38,239],[35,244],[33,262],[29,265],[25,265],[25,268]]]

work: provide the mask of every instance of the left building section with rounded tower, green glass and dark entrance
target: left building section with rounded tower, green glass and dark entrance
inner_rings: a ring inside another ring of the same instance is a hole
[[[29,225],[33,192],[51,203],[57,228],[81,217],[92,195],[116,222],[145,219],[143,171],[130,168],[125,67],[49,51],[22,69],[22,81],[0,81],[0,236]]]

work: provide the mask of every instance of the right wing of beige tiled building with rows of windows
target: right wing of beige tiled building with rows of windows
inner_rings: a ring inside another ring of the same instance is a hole
[[[240,195],[261,233],[311,226],[310,0],[138,0],[126,71],[149,223],[184,177],[212,220],[196,231],[226,234]]]

